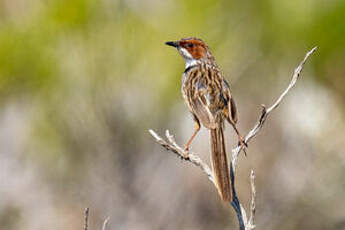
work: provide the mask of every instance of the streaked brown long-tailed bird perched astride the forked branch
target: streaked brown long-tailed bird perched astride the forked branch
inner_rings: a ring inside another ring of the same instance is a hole
[[[236,128],[237,110],[224,79],[208,46],[198,38],[183,38],[166,42],[175,47],[186,63],[182,76],[183,99],[193,114],[195,131],[185,146],[189,145],[200,130],[200,123],[210,130],[211,162],[219,195],[224,201],[232,201],[231,180],[224,143],[224,120],[235,129],[239,141],[243,138]]]

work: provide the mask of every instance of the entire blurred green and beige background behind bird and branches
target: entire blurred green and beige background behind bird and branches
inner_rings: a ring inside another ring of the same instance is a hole
[[[254,168],[259,229],[345,228],[345,1],[1,0],[1,229],[81,228],[85,207],[92,229],[237,228],[147,132],[192,133],[183,60],[164,46],[188,36],[227,75],[242,132],[319,47],[240,159],[238,193]],[[192,146],[205,159],[207,140]]]

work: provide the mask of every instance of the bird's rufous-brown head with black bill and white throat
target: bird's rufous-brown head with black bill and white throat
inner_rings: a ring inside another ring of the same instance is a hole
[[[182,38],[179,41],[166,42],[165,44],[178,50],[186,62],[186,67],[200,62],[214,62],[208,46],[201,39]]]

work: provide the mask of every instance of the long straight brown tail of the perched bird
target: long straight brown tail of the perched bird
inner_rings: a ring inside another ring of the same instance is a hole
[[[216,129],[210,129],[210,138],[212,170],[217,189],[224,201],[231,202],[231,181],[225,151],[223,126],[219,125]]]

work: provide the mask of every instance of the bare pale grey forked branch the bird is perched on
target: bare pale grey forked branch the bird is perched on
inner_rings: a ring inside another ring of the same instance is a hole
[[[297,66],[297,68],[294,70],[294,73],[292,75],[292,79],[290,81],[290,84],[288,87],[284,90],[284,92],[279,96],[279,98],[271,105],[268,109],[264,105],[262,105],[262,112],[259,117],[259,120],[255,124],[255,126],[248,132],[248,134],[244,138],[245,144],[248,144],[251,139],[253,139],[258,132],[261,130],[262,126],[264,125],[268,115],[276,109],[282,100],[285,98],[287,93],[290,91],[290,89],[296,84],[302,69],[304,67],[304,64],[306,63],[307,59],[311,54],[315,52],[317,47],[314,47],[311,49],[304,57],[302,62]],[[213,173],[210,169],[210,167],[204,163],[201,158],[198,156],[198,154],[190,152],[190,151],[185,151],[183,148],[181,148],[179,145],[176,144],[176,141],[172,135],[170,135],[169,131],[166,131],[166,137],[167,141],[165,141],[163,138],[161,138],[157,133],[155,133],[153,130],[149,130],[151,135],[156,139],[156,141],[163,146],[166,150],[173,152],[176,154],[178,157],[180,157],[183,160],[186,160],[195,166],[199,167],[209,178],[210,181],[216,186],[214,178],[213,178]],[[238,221],[239,221],[239,226],[240,230],[253,230],[255,228],[254,225],[254,216],[255,216],[255,197],[256,197],[256,190],[255,190],[255,184],[254,184],[254,171],[251,170],[250,174],[250,183],[251,183],[251,203],[250,203],[250,216],[249,219],[247,218],[247,214],[241,203],[239,202],[235,190],[235,170],[237,166],[237,160],[238,156],[243,148],[243,145],[239,145],[232,149],[232,160],[230,164],[230,178],[232,182],[232,193],[233,193],[233,201],[231,202],[232,207],[234,208]],[[217,186],[216,186],[217,188]]]

